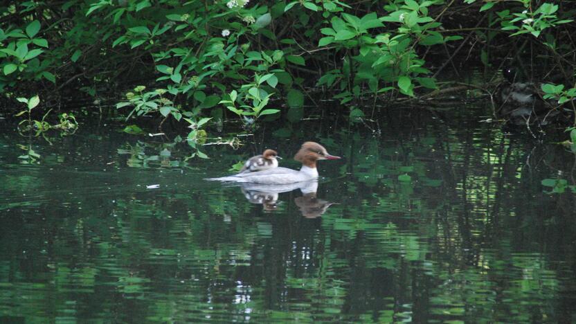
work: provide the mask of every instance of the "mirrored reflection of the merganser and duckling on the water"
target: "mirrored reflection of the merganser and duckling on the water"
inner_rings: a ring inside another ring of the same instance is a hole
[[[242,183],[240,190],[244,197],[252,204],[262,204],[264,211],[278,209],[278,194],[300,189],[302,197],[296,197],[294,203],[298,206],[300,213],[307,218],[316,218],[326,212],[328,207],[334,203],[318,199],[318,181],[306,181],[301,183],[291,183],[289,185],[262,185],[258,183]]]

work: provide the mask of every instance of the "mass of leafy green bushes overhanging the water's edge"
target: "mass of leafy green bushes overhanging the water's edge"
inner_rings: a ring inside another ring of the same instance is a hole
[[[156,114],[183,123],[183,117],[220,120],[232,111],[253,122],[289,114],[277,102],[303,107],[303,91],[319,86],[352,103],[349,116],[356,120],[365,113],[360,100],[415,97],[438,87],[430,61],[452,60],[451,42],[463,39],[462,26],[447,15],[465,12],[483,24],[471,13],[489,17],[487,26],[472,28],[486,46],[470,55],[486,65],[494,60],[489,46],[498,35],[538,39],[532,44],[545,47],[557,64],[573,53],[564,42],[572,30],[568,7],[464,2],[454,10],[444,0],[359,6],[309,0],[8,1],[0,7],[8,21],[0,29],[0,91],[43,89],[48,95],[72,88],[96,96],[102,87],[120,84],[125,91],[143,84],[118,102],[118,108],[132,107],[128,118]],[[552,94],[562,101],[573,93]]]

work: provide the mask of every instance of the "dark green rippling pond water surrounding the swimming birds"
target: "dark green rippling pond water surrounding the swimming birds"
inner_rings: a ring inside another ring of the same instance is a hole
[[[467,108],[267,124],[188,161],[120,125],[48,143],[0,120],[0,322],[576,321],[575,199],[541,185],[575,156]],[[204,181],[265,147],[296,168],[310,140],[343,156],[316,192]]]

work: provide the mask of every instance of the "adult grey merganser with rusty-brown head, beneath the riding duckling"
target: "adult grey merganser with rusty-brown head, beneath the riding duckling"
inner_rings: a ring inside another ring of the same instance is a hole
[[[238,173],[229,177],[211,178],[207,180],[231,181],[237,183],[262,183],[268,185],[297,183],[318,178],[316,161],[336,159],[340,159],[340,156],[328,154],[322,145],[315,142],[306,142],[302,147],[300,147],[300,150],[294,156],[294,160],[302,163],[302,168],[298,171],[278,167],[258,172]]]

